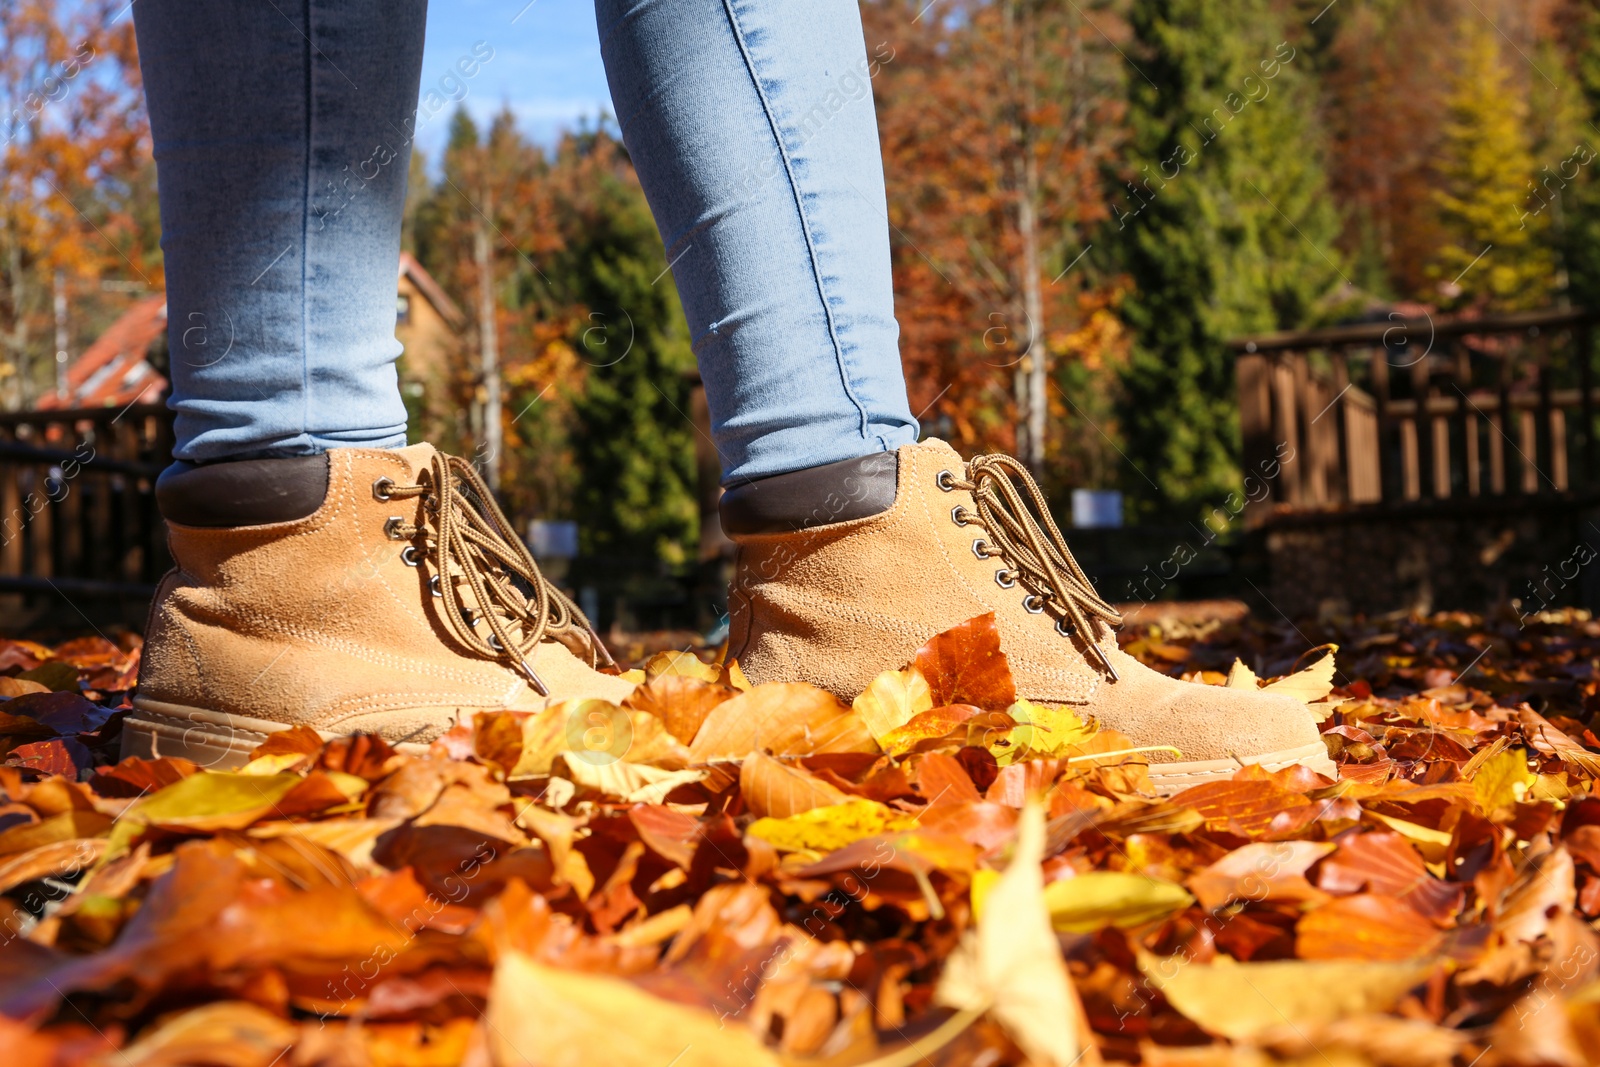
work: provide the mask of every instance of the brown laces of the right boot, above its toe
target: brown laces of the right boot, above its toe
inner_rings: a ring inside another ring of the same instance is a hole
[[[966,490],[973,494],[978,512],[957,504],[950,522],[957,526],[971,523],[989,534],[989,541],[979,537],[973,542],[973,553],[979,560],[998,557],[1011,566],[1010,571],[998,571],[995,582],[1011,589],[1021,579],[1030,590],[1022,597],[1022,606],[1035,614],[1054,605],[1061,611],[1056,632],[1062,637],[1080,633],[1115,681],[1117,669],[1094,640],[1090,619],[1118,625],[1122,616],[1094,592],[1094,584],[1072,558],[1067,539],[1050,517],[1045,494],[1027,467],[1005,454],[978,456],[966,464],[966,482],[941,470],[938,485],[946,493]]]

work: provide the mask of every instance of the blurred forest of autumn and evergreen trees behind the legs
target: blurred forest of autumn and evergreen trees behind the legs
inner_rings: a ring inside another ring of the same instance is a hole
[[[82,352],[162,288],[125,11],[0,5],[6,408],[51,387],[58,298]],[[1019,453],[1056,501],[1117,488],[1166,522],[1235,491],[1227,338],[1600,307],[1600,0],[864,0],[862,18],[912,411],[966,453]],[[437,443],[482,454],[491,309],[509,512],[576,520],[584,555],[690,565],[694,362],[614,126],[547,144],[509,107],[426,118],[448,136],[411,158],[405,246],[467,312]]]

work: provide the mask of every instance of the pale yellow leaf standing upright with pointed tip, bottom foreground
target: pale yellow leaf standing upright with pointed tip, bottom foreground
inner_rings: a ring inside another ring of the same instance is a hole
[[[1077,1062],[1088,1032],[1045,910],[1045,811],[1022,808],[1011,865],[984,894],[982,915],[944,966],[934,1000],[989,1011],[1035,1064]]]

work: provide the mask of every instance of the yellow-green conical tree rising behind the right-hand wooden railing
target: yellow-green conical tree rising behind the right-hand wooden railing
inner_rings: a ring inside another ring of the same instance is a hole
[[[1514,310],[1550,301],[1550,213],[1534,186],[1528,106],[1483,19],[1461,26],[1434,203],[1446,235],[1434,264],[1454,304]],[[1550,190],[1549,195],[1557,195]]]

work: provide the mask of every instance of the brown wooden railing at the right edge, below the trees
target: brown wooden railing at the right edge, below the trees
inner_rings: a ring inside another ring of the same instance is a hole
[[[1291,507],[1600,490],[1579,309],[1400,318],[1229,342],[1246,486]]]

